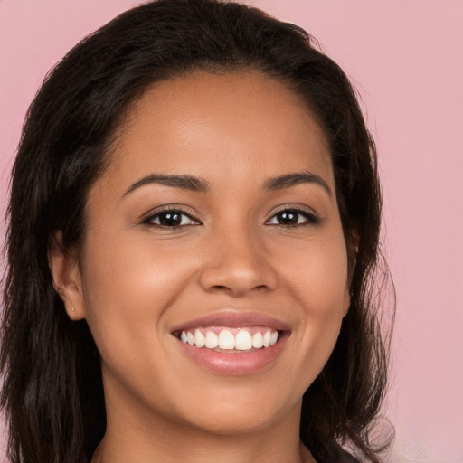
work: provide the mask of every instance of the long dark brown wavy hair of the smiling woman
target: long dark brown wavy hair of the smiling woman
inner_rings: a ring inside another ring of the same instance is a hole
[[[326,133],[351,306],[333,354],[304,395],[300,437],[320,462],[334,463],[345,445],[365,461],[380,461],[370,435],[390,343],[373,278],[382,262],[381,193],[373,139],[354,90],[296,25],[231,2],[159,0],[119,15],[76,45],[48,74],[27,114],[7,217],[0,357],[14,463],[89,462],[105,433],[99,352],[86,322],[67,317],[47,252],[56,231],[65,249],[82,240],[87,194],[109,165],[131,105],[156,81],[197,70],[252,70],[279,80],[307,102]]]

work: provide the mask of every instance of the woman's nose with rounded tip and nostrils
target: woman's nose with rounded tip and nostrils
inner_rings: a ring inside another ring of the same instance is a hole
[[[269,252],[250,233],[224,231],[210,240],[200,284],[207,292],[239,298],[255,291],[271,291],[277,275]]]

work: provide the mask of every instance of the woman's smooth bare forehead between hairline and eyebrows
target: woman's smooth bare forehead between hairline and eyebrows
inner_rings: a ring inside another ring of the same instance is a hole
[[[334,188],[326,136],[306,102],[257,71],[195,72],[156,83],[118,131],[119,185],[150,171],[254,183],[301,170]]]

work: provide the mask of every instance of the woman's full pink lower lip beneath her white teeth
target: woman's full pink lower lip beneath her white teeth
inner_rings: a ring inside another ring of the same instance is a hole
[[[286,333],[279,337],[279,341],[269,347],[262,347],[250,352],[217,352],[206,347],[196,347],[177,339],[184,354],[194,363],[199,364],[212,373],[242,375],[256,373],[273,364],[288,336]]]

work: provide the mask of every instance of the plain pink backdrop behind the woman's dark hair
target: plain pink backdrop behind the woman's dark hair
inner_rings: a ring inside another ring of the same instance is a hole
[[[463,463],[463,2],[252,3],[315,34],[354,80],[376,137],[398,298],[388,461]],[[24,113],[44,74],[135,4],[0,0],[2,213]]]

